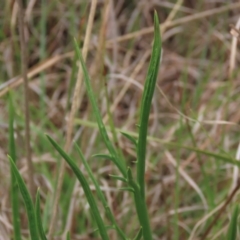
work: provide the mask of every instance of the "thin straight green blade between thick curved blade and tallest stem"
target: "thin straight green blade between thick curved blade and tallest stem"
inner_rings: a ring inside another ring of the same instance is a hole
[[[87,160],[85,159],[81,149],[79,148],[79,146],[77,144],[75,144],[75,146],[76,146],[76,149],[78,151],[78,154],[79,154],[80,158],[82,159],[83,165],[84,165],[85,169],[87,170],[88,175],[90,176],[90,178],[91,178],[91,180],[92,180],[92,182],[93,182],[93,184],[94,184],[94,186],[96,188],[97,194],[98,194],[98,196],[99,196],[99,198],[100,198],[100,200],[101,200],[101,202],[102,202],[102,204],[103,204],[103,206],[104,206],[104,208],[106,210],[107,217],[111,221],[114,229],[116,229],[119,237],[121,239],[123,239],[123,240],[127,239],[125,234],[123,233],[123,231],[117,225],[116,220],[115,220],[115,218],[113,216],[113,213],[112,213],[111,209],[108,206],[107,200],[106,200],[102,190],[100,189],[100,186],[99,186],[96,178],[94,177],[94,174],[93,174],[91,168],[89,167],[89,165],[87,163]]]

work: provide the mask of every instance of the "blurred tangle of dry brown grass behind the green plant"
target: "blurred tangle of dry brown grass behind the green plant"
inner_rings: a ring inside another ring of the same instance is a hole
[[[6,157],[9,89],[14,93],[16,108],[18,167],[26,180],[27,168],[23,150],[25,134],[16,21],[18,8],[14,1],[5,1],[2,5],[0,239],[7,240],[12,233]],[[86,62],[104,122],[109,125],[103,80],[107,77],[110,109],[116,127],[136,132],[151,51],[154,9],[158,11],[161,22],[164,52],[149,135],[163,142],[174,141],[235,156],[239,142],[240,56],[237,51],[239,41],[229,33],[229,24],[238,23],[239,27],[238,1],[228,4],[208,0],[98,1]],[[42,5],[40,1],[29,1],[25,10],[34,183],[41,186],[44,226],[48,228],[60,159],[44,133],[52,135],[62,146],[66,142],[67,116],[71,108],[68,99],[72,101],[73,96],[73,90],[69,89],[74,84],[71,79],[73,82],[77,79],[76,72],[72,74],[76,66],[72,39],[75,36],[83,43],[90,4],[89,1],[73,3],[66,0]],[[75,101],[81,105],[75,115],[73,138],[89,158],[120,226],[132,236],[138,226],[132,199],[129,193],[117,190],[121,183],[108,178],[108,174],[115,171],[111,163],[90,158],[94,153],[103,152],[104,148],[84,91],[78,97]],[[120,134],[117,137],[126,161],[134,166],[131,163],[135,160],[134,147]],[[74,150],[72,154],[76,155]],[[236,185],[238,171],[231,165],[195,152],[170,148],[151,138],[147,154],[147,202],[154,238],[199,239],[213,220],[212,212],[220,209],[230,189]],[[238,193],[235,195],[237,200]],[[224,239],[230,212],[231,203],[209,234],[212,239]],[[24,211],[21,219],[22,233],[27,236]],[[56,226],[55,239],[60,239],[59,235],[68,229],[71,229],[72,239],[96,239],[83,191],[68,168]],[[113,231],[110,234],[111,239],[116,239]]]

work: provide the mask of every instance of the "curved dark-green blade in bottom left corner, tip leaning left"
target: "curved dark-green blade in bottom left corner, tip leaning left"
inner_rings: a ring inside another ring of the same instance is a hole
[[[11,167],[13,169],[14,175],[17,179],[17,183],[18,183],[20,192],[22,194],[22,197],[23,197],[23,200],[25,203],[31,239],[38,240],[39,239],[38,238],[38,229],[37,229],[35,209],[34,209],[32,198],[26,187],[26,184],[24,183],[20,173],[18,172],[18,169],[17,169],[15,163],[13,162],[13,160],[10,156],[9,156],[9,161],[10,161]]]

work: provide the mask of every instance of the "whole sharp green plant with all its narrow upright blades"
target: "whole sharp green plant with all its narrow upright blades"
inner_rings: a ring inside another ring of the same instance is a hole
[[[148,209],[145,201],[144,173],[145,173],[145,156],[146,156],[146,146],[147,146],[148,119],[149,119],[151,102],[152,102],[152,97],[155,89],[156,79],[157,79],[158,70],[159,70],[160,56],[161,56],[161,37],[160,37],[159,22],[158,22],[157,14],[156,12],[154,14],[154,42],[153,42],[151,60],[150,60],[149,69],[147,72],[147,77],[146,77],[142,101],[141,101],[140,122],[138,125],[139,136],[138,136],[138,139],[135,139],[134,137],[128,135],[127,133],[123,133],[123,135],[126,138],[128,138],[131,142],[133,142],[134,145],[136,146],[136,154],[137,154],[136,177],[133,176],[132,169],[129,166],[127,166],[126,161],[118,155],[118,151],[115,149],[114,145],[112,144],[111,140],[108,137],[106,128],[103,124],[103,121],[100,115],[100,111],[98,109],[96,100],[94,98],[94,94],[92,92],[90,78],[89,78],[85,63],[83,61],[80,49],[76,41],[74,41],[74,44],[75,44],[75,51],[76,51],[77,57],[82,65],[88,97],[93,107],[93,111],[98,123],[98,128],[101,133],[101,137],[105,143],[105,146],[109,152],[108,155],[96,154],[95,156],[110,159],[116,165],[116,167],[119,170],[119,175],[111,175],[111,177],[122,181],[125,184],[124,189],[127,191],[130,191],[133,195],[134,204],[135,204],[135,208],[136,208],[136,212],[139,220],[139,231],[137,232],[135,237],[130,237],[130,238],[127,237],[126,234],[119,228],[114,218],[114,215],[108,206],[107,200],[103,192],[101,191],[100,186],[96,181],[94,174],[91,171],[91,168],[89,167],[86,159],[84,158],[84,155],[82,154],[81,149],[77,145],[75,145],[76,149],[87,170],[87,173],[89,174],[89,177],[91,178],[92,182],[95,185],[97,196],[100,198],[105,208],[105,214],[111,223],[111,229],[116,230],[118,234],[118,238],[119,239],[142,239],[143,238],[145,240],[151,240],[152,231],[151,231],[150,222],[149,222]],[[12,171],[12,182],[13,182],[12,189],[14,188],[16,190],[16,184],[15,184],[15,181],[16,181],[25,202],[31,239],[45,240],[47,238],[43,231],[42,222],[41,222],[39,192],[37,193],[37,196],[36,196],[36,206],[34,206],[33,200],[29,194],[29,191],[15,165],[15,147],[14,147],[13,127],[12,127],[13,114],[11,114],[13,112],[13,106],[11,104],[11,101],[9,106],[9,112],[10,112],[10,121],[9,121],[10,128],[9,129],[10,129],[10,155],[11,155],[11,157],[9,156],[9,160],[11,163],[11,171]],[[69,164],[72,171],[75,173],[77,179],[81,183],[81,186],[84,190],[88,204],[90,205],[90,211],[93,215],[93,218],[96,221],[98,232],[101,238],[104,240],[109,239],[108,232],[107,232],[109,229],[109,226],[107,226],[103,222],[103,219],[99,212],[99,207],[97,206],[96,200],[92,194],[92,191],[90,190],[89,183],[84,177],[79,167],[76,165],[76,161],[72,159],[66,152],[64,152],[64,150],[50,136],[47,136],[47,138],[49,139],[53,147],[59,152],[59,154]],[[15,229],[14,237],[15,239],[21,239],[20,230],[19,230],[20,227],[19,227],[19,221],[18,221],[19,214],[17,212],[18,202],[16,201],[17,197],[14,195],[15,190],[12,191],[13,193],[12,207],[14,210],[13,223],[14,223],[14,229]],[[67,239],[70,239],[69,235],[67,236]]]

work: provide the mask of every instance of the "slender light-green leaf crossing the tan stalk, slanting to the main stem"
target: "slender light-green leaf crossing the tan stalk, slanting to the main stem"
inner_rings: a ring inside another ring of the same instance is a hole
[[[105,126],[103,124],[103,121],[102,121],[102,118],[101,118],[100,111],[98,109],[96,100],[94,98],[94,94],[93,94],[91,83],[90,83],[90,77],[88,75],[87,68],[86,68],[85,63],[83,61],[83,58],[82,58],[82,55],[81,55],[81,52],[80,52],[80,49],[78,47],[78,44],[77,44],[76,40],[74,40],[74,44],[75,44],[75,49],[76,49],[78,59],[80,60],[81,65],[82,65],[83,75],[84,75],[84,80],[85,80],[85,84],[86,84],[86,88],[87,88],[88,97],[89,97],[91,105],[93,107],[93,111],[94,111],[94,114],[95,114],[95,117],[96,117],[96,120],[97,120],[97,123],[98,123],[99,131],[101,133],[101,136],[104,140],[104,143],[105,143],[108,151],[110,152],[110,154],[114,158],[114,163],[116,164],[118,169],[121,171],[123,176],[126,177],[127,176],[126,163],[121,158],[118,157],[118,153],[115,150],[112,142],[110,141],[110,139],[108,137],[106,128],[105,128]]]

